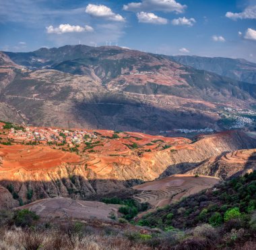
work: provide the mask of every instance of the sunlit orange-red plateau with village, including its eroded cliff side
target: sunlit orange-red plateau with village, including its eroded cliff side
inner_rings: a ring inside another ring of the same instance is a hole
[[[102,196],[184,172],[226,151],[256,147],[255,139],[235,130],[192,142],[135,132],[0,125],[0,184],[20,202]]]

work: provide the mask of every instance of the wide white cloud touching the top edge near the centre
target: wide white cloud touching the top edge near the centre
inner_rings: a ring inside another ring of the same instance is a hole
[[[123,5],[123,9],[126,11],[174,11],[176,13],[183,13],[186,7],[175,0],[142,0],[139,3]]]

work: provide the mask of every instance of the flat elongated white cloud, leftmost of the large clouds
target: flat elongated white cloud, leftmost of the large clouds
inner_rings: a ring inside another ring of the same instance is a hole
[[[46,31],[49,34],[63,34],[70,32],[93,32],[94,29],[91,26],[71,26],[70,24],[61,24],[59,27],[54,28],[52,25],[46,27]]]

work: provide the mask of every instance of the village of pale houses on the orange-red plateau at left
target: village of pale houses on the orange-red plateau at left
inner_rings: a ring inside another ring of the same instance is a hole
[[[63,130],[58,128],[26,127],[24,130],[11,128],[8,137],[24,142],[41,142],[42,144],[67,143],[69,147],[97,138],[94,132],[86,130]]]

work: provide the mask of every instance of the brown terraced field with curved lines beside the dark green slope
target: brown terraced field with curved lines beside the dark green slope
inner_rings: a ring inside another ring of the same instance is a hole
[[[157,181],[150,181],[133,187],[141,194],[133,196],[139,202],[148,202],[153,207],[177,202],[184,197],[196,194],[201,190],[212,188],[219,182],[218,178],[194,175],[172,175]]]

